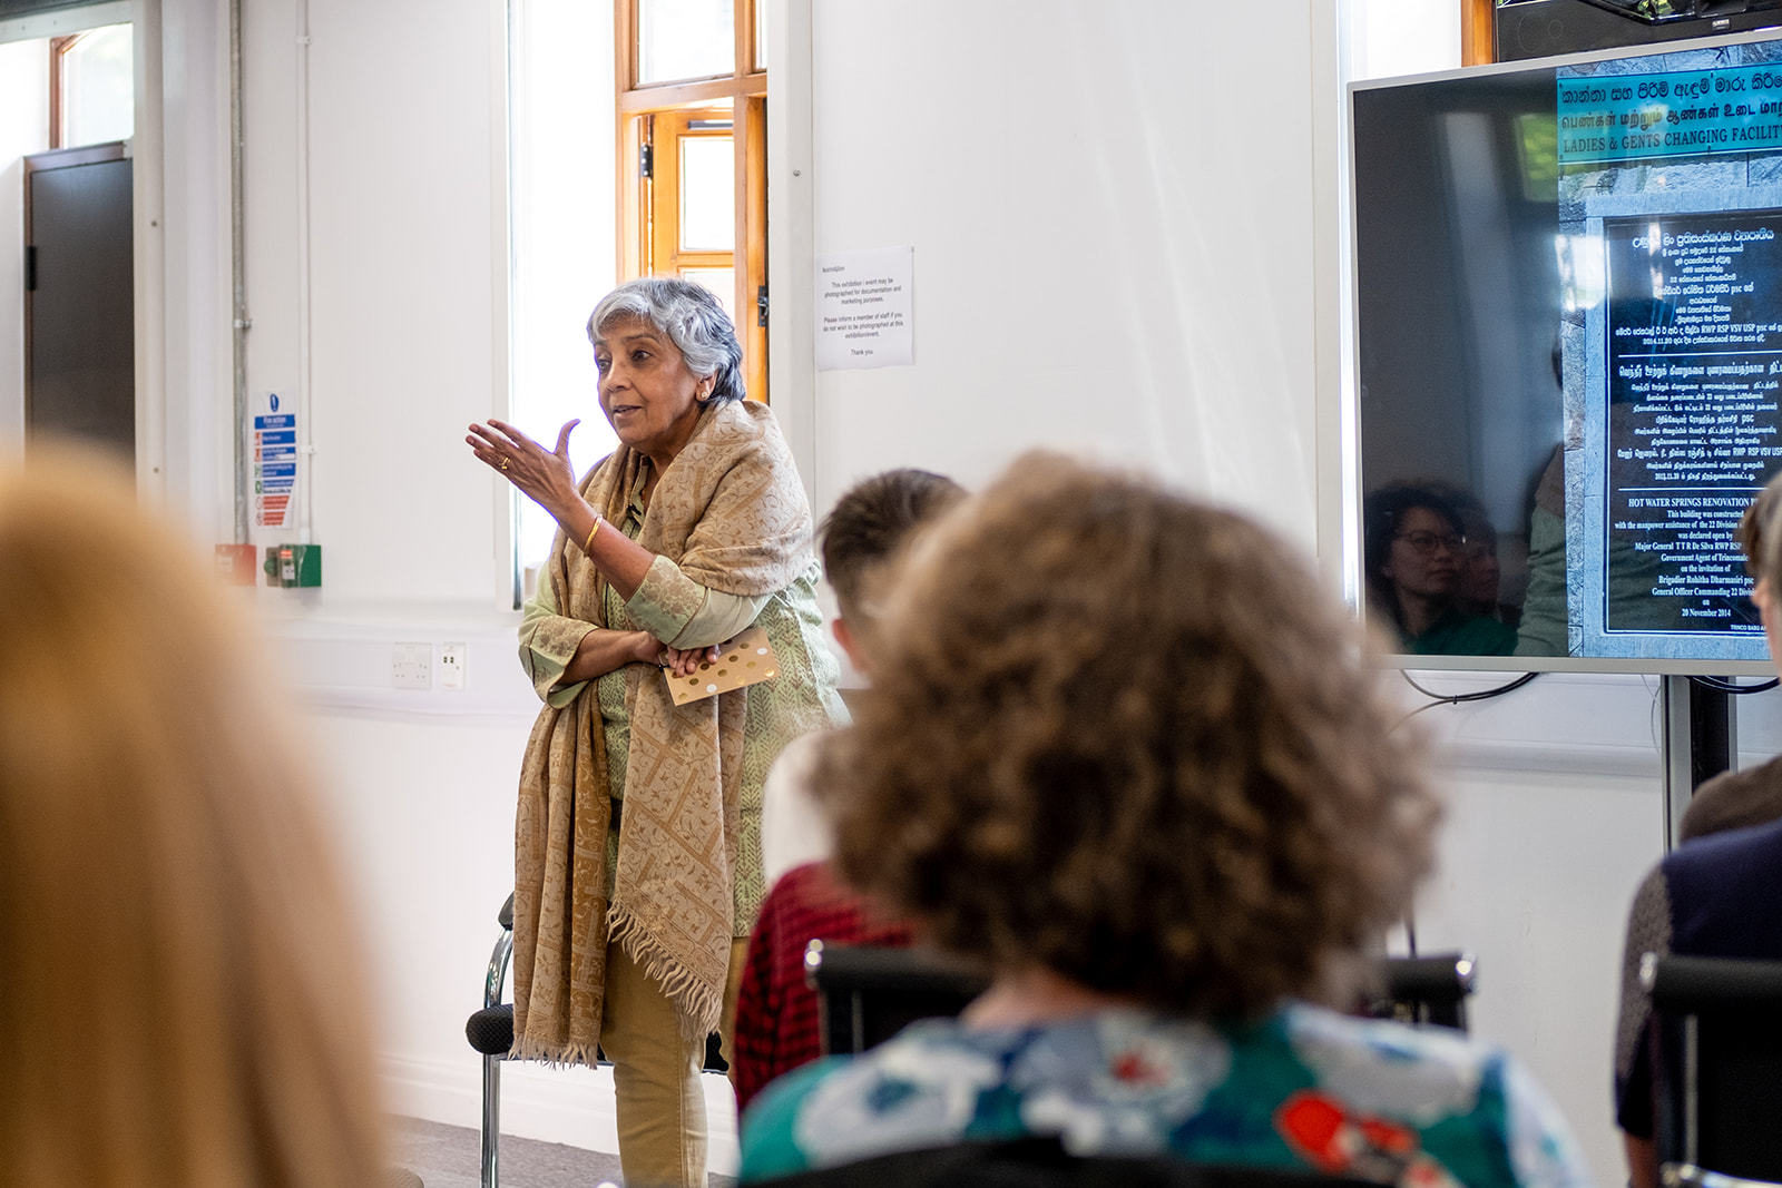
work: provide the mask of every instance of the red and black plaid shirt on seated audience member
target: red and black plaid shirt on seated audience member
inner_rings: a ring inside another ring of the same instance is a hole
[[[761,903],[748,958],[736,990],[736,1108],[768,1081],[823,1054],[816,990],[804,983],[804,946],[909,946],[909,924],[875,915],[866,899],[843,887],[827,862],[795,866]]]

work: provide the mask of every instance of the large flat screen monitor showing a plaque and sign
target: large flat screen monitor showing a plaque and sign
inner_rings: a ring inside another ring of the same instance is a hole
[[[1427,668],[1766,673],[1782,41],[1349,89],[1347,563]]]

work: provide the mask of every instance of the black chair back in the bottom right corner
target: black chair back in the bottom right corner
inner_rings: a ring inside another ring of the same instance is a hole
[[[1647,953],[1639,978],[1659,1165],[1782,1181],[1782,962]]]

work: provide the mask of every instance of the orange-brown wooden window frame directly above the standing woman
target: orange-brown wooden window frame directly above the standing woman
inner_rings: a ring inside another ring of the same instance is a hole
[[[643,146],[652,144],[652,121],[663,112],[731,109],[736,151],[736,337],[743,346],[748,395],[768,394],[768,331],[756,315],[756,294],[766,289],[766,96],[768,75],[754,69],[756,5],[766,0],[734,0],[734,53],[729,75],[675,82],[638,82],[638,0],[615,0],[615,68],[618,80],[618,271],[620,280],[645,276],[654,267],[650,226],[652,180],[643,176]]]

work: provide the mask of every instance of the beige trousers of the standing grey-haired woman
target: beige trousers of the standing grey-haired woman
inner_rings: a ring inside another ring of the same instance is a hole
[[[731,944],[720,1022],[725,1060],[732,1060],[736,983],[747,951],[747,940]],[[606,948],[601,1047],[613,1062],[618,1163],[625,1184],[706,1188],[706,1094],[699,1079],[706,1065],[706,1040],[681,1038],[674,1003],[618,944]]]

